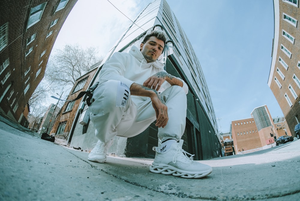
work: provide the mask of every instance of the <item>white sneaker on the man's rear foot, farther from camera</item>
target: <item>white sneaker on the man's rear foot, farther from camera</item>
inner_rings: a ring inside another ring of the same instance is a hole
[[[107,150],[113,144],[113,140],[110,140],[106,143],[101,142],[98,140],[98,143],[95,144],[94,149],[88,155],[88,160],[97,162],[97,163],[105,163],[106,162],[106,155]]]

